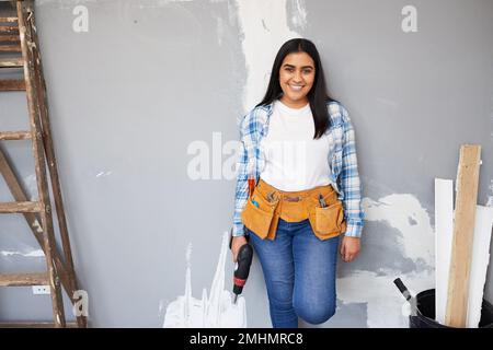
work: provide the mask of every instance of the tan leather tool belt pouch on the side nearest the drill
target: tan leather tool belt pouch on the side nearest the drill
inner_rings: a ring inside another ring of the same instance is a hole
[[[249,198],[244,206],[241,221],[250,231],[264,240],[277,225],[277,220],[275,220],[277,219],[275,215],[277,205],[278,199],[271,202],[255,188],[252,198]]]

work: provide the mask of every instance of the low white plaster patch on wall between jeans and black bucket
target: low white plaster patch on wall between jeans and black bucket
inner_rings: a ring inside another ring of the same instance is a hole
[[[378,276],[372,271],[355,271],[348,277],[337,279],[337,299],[345,303],[367,304],[367,326],[369,328],[409,327],[403,307],[408,302],[395,288],[393,280],[400,277],[410,289],[421,292],[434,288],[433,271],[399,276]]]

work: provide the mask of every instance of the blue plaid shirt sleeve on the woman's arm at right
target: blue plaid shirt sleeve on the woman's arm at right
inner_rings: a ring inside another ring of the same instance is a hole
[[[347,223],[345,235],[360,237],[363,231],[364,211],[362,208],[362,185],[358,175],[356,145],[353,125],[347,110],[342,108],[343,144],[342,168],[339,177],[340,188],[344,194],[343,207]]]

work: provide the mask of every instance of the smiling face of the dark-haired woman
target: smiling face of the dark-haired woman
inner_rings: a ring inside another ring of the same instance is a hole
[[[279,70],[279,84],[283,89],[280,101],[291,108],[303,107],[307,94],[316,77],[313,59],[307,52],[287,55]]]

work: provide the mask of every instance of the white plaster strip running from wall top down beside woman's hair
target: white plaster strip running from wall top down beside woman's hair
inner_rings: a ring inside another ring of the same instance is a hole
[[[243,93],[242,115],[244,115],[265,94],[271,68],[279,47],[286,40],[301,35],[288,27],[286,0],[237,0],[237,3],[238,19],[243,32],[241,45],[248,72]],[[306,21],[303,1],[297,1],[297,21]]]

